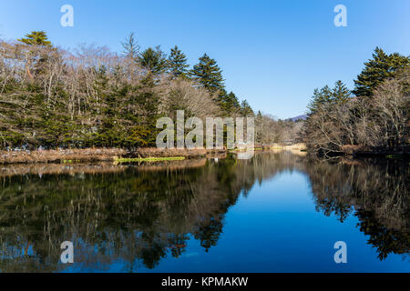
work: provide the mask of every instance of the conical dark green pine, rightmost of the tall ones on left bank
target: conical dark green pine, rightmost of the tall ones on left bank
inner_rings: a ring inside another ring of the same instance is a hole
[[[217,62],[207,54],[200,57],[200,62],[190,70],[190,76],[210,92],[217,92],[224,88],[222,71]]]

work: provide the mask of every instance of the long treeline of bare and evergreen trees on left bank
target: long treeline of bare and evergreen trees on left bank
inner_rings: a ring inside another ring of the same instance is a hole
[[[225,90],[209,55],[190,69],[178,46],[169,55],[159,47],[140,50],[134,34],[122,45],[121,54],[96,45],[67,51],[41,31],[0,41],[0,147],[155,146],[157,119],[176,110],[185,118],[255,115]],[[257,132],[276,124],[259,117]]]

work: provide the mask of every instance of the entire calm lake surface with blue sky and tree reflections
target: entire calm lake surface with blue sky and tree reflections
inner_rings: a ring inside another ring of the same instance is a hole
[[[0,167],[1,272],[409,272],[408,161]],[[59,262],[72,241],[75,263]],[[347,264],[333,245],[347,244]]]

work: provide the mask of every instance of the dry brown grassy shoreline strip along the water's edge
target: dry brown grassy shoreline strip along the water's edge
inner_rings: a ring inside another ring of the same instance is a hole
[[[277,152],[277,151],[297,151],[303,155],[308,155],[304,144],[282,146],[273,144],[271,146],[254,147],[255,152]],[[158,162],[176,161],[195,158],[224,158],[229,153],[237,153],[235,150],[208,150],[202,149],[159,149],[156,147],[144,147],[137,149],[124,148],[75,148],[56,150],[0,150],[0,165],[33,165],[33,164],[62,164],[70,165],[77,163],[96,162]],[[385,157],[385,158],[405,158],[410,152],[404,151],[384,151],[358,146],[346,146],[340,156],[359,157]]]

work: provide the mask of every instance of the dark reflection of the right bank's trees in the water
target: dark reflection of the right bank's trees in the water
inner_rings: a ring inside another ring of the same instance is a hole
[[[370,236],[384,260],[389,254],[410,250],[408,161],[343,161],[316,163],[306,171],[316,208],[324,215],[335,213],[341,222],[351,212],[359,218],[360,230]]]

